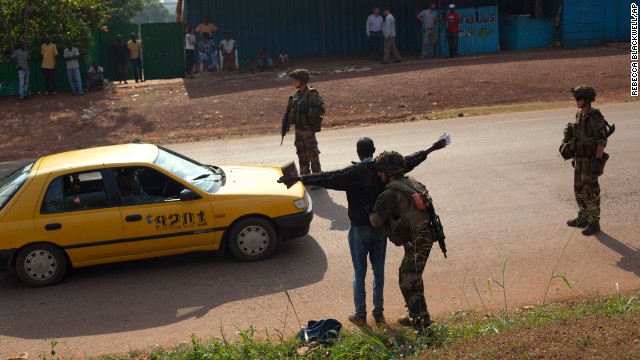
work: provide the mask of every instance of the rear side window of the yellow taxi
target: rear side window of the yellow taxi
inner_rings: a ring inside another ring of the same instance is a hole
[[[104,181],[99,171],[71,173],[49,184],[40,213],[89,210],[109,206]]]

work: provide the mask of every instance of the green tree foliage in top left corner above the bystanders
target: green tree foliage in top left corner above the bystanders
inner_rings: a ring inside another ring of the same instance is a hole
[[[5,35],[0,38],[0,58],[10,56],[11,42],[18,47],[21,41],[27,43],[32,58],[38,56],[45,35],[59,52],[67,40],[86,49],[93,41],[94,29],[131,23],[142,8],[142,0],[0,0],[0,17],[4,15],[0,20],[5,20],[9,29],[9,36],[0,29]]]

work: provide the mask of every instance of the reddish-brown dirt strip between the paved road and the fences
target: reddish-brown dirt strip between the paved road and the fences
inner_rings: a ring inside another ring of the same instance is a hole
[[[628,101],[628,44],[500,52],[381,65],[354,57],[299,59],[325,99],[325,128],[423,119],[449,109],[571,105],[589,83],[598,103]],[[0,161],[141,140],[152,143],[278,134],[295,89],[281,72],[206,73],[90,92],[0,99]],[[59,79],[58,81],[66,81]]]

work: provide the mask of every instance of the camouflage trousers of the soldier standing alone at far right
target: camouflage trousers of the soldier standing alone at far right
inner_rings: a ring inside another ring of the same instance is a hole
[[[599,174],[591,174],[592,158],[575,158],[573,191],[578,203],[578,218],[589,223],[600,219]]]

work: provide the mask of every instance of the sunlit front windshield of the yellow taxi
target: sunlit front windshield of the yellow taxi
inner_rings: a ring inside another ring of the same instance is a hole
[[[222,169],[200,164],[168,149],[159,147],[154,163],[208,193],[214,193],[224,185]]]

